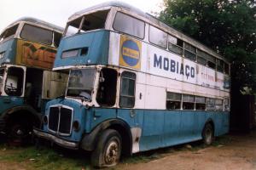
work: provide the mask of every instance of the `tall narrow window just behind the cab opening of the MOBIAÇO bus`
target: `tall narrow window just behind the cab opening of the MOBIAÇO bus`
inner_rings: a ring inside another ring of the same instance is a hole
[[[124,71],[121,75],[120,107],[132,108],[135,105],[136,74]]]

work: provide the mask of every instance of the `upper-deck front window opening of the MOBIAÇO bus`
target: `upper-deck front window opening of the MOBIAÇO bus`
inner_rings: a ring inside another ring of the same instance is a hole
[[[79,32],[91,31],[102,29],[105,27],[105,23],[108,17],[109,10],[100,10],[95,13],[85,14],[84,16],[72,20],[67,23],[67,31],[65,36],[71,36]]]

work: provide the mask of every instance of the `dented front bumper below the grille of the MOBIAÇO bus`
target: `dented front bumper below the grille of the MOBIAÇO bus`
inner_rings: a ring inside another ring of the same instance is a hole
[[[47,139],[47,140],[54,142],[55,144],[58,144],[64,148],[68,148],[68,149],[72,149],[72,150],[79,149],[79,143],[67,141],[65,139],[60,139],[53,134],[45,133],[44,131],[39,130],[37,128],[33,129],[33,133],[39,138]]]

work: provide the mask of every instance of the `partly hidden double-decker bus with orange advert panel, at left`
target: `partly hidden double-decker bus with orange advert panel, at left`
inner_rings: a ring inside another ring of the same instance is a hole
[[[26,17],[0,34],[0,131],[11,142],[26,142],[46,101],[65,94],[67,74],[51,71],[63,31]]]

